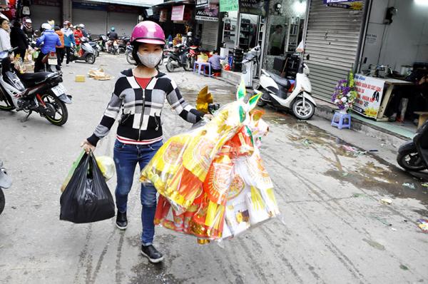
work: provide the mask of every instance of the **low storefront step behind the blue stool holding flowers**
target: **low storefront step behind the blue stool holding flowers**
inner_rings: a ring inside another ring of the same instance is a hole
[[[315,115],[331,121],[337,108],[331,103],[317,98],[315,98],[315,101],[317,102]],[[414,136],[414,131],[397,126],[396,123],[372,121],[370,118],[362,117],[357,113],[351,113],[351,116],[352,130],[377,138],[390,146],[394,146],[394,148],[399,147]]]

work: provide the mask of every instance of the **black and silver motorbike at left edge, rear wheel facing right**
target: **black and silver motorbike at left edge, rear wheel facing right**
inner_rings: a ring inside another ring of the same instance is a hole
[[[66,103],[71,103],[71,96],[66,95],[61,83],[62,72],[20,73],[9,59],[15,49],[0,52],[0,110],[24,111],[24,121],[35,111],[50,123],[63,125],[68,119]]]

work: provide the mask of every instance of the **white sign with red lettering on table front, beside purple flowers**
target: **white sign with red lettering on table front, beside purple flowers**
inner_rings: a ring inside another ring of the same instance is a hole
[[[385,81],[379,78],[355,74],[357,99],[352,109],[363,116],[377,118]]]

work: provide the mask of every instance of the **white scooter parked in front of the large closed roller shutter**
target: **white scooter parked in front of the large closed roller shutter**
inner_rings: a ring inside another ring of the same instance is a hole
[[[259,91],[263,92],[258,106],[269,104],[274,108],[292,110],[294,115],[302,120],[310,119],[315,112],[317,103],[311,96],[309,68],[301,64],[296,74],[296,80],[288,80],[262,69]],[[291,91],[292,83],[295,83]]]

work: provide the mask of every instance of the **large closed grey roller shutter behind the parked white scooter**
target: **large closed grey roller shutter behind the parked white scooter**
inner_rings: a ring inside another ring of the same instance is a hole
[[[337,81],[346,78],[359,49],[362,11],[310,3],[305,39],[305,61],[310,68],[312,94],[330,101]]]

